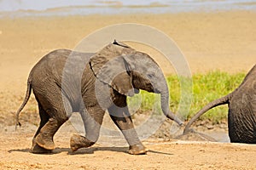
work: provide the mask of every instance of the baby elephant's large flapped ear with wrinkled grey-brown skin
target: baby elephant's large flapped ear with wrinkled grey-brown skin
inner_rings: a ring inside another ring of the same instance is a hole
[[[96,54],[90,59],[90,68],[96,78],[101,82],[108,83],[119,94],[133,96],[134,89],[131,76],[127,68],[129,65],[122,56],[114,57],[109,60],[101,54]]]

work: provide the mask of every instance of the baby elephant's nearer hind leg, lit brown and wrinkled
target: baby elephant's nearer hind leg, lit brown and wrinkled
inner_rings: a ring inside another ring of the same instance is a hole
[[[40,96],[38,98],[44,111],[49,115],[49,120],[40,129],[35,141],[40,147],[46,150],[55,149],[53,137],[72,113],[72,107],[68,99],[56,92],[58,91],[55,90],[53,96]]]

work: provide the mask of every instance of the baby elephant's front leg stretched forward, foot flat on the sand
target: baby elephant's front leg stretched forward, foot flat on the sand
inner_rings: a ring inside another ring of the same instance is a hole
[[[133,126],[127,106],[119,107],[112,105],[110,108],[108,108],[108,112],[113,122],[117,125],[117,127],[119,127],[121,132],[124,134],[126,141],[130,145],[129,154],[146,154],[147,150],[137,136],[137,132]]]

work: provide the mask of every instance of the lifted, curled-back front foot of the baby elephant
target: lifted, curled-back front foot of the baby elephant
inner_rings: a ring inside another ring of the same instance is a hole
[[[70,139],[70,148],[72,151],[79,150],[79,148],[87,148],[93,144],[95,144],[95,142],[91,142],[89,139],[79,134],[73,134]]]

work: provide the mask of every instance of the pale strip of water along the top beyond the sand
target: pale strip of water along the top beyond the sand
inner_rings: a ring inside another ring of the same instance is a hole
[[[256,0],[0,0],[0,17],[256,11]]]

